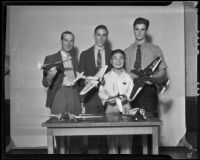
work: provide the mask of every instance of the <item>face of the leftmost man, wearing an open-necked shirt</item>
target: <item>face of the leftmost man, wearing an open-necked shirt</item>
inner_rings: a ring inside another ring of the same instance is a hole
[[[74,37],[71,34],[64,34],[62,40],[62,49],[69,52],[74,47]]]

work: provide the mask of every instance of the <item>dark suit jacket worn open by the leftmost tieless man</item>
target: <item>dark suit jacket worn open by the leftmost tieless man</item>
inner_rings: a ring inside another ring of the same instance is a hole
[[[44,60],[44,64],[51,64],[51,63],[55,63],[55,62],[58,62],[58,61],[62,61],[60,51],[55,53],[55,54],[46,56],[45,60]],[[76,71],[78,71],[78,60],[77,60],[77,58],[72,57],[72,65],[73,65],[74,74],[76,76]],[[57,74],[53,78],[51,85],[49,85],[48,82],[47,82],[47,71],[50,68],[51,67],[43,70],[43,79],[42,79],[43,86],[48,87],[46,107],[49,107],[49,108],[51,108],[51,104],[52,104],[53,98],[55,96],[55,93],[56,93],[57,89],[60,88],[60,86],[62,85],[63,77],[64,77],[63,63],[59,63],[59,64],[56,65]]]

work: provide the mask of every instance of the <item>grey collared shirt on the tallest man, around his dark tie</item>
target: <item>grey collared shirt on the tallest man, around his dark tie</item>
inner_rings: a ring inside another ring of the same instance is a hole
[[[136,52],[137,52],[137,42],[130,45],[125,49],[126,53],[126,70],[128,73],[134,69]],[[141,69],[146,68],[155,58],[161,57],[161,64],[158,70],[167,68],[162,50],[159,46],[144,42],[141,44]]]

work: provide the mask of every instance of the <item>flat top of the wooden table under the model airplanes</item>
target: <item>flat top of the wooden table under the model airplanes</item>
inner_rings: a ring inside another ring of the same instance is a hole
[[[152,118],[150,120],[135,120],[129,115],[118,115],[118,114],[104,114],[97,115],[96,118],[80,118],[77,121],[65,120],[59,121],[55,117],[49,118],[47,121],[42,123],[42,127],[115,127],[115,126],[159,126],[163,122],[157,118]]]

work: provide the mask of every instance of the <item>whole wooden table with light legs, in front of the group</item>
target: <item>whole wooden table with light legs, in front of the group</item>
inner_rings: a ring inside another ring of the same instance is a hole
[[[60,122],[52,117],[42,123],[47,127],[48,154],[54,153],[54,136],[147,135],[152,134],[152,154],[159,153],[158,128],[161,120],[135,121],[131,116],[102,115],[101,118]],[[147,136],[143,136],[143,154],[147,154]]]

